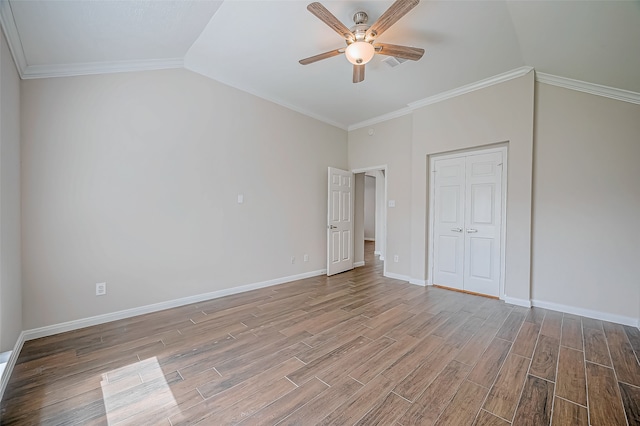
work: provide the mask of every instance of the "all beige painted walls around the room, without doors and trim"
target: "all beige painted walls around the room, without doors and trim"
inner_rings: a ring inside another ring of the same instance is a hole
[[[19,101],[6,58],[3,44],[0,255],[14,265],[20,136],[5,123]],[[429,155],[498,143],[507,297],[640,318],[637,105],[529,73],[349,132],[347,146],[340,129],[184,70],[22,84],[25,329],[323,269],[329,165],[387,166],[387,272],[426,280]],[[19,273],[0,277],[5,350],[21,330]]]

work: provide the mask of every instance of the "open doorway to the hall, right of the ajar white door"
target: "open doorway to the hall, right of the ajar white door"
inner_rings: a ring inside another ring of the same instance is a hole
[[[356,177],[354,265],[365,264],[365,241],[375,244],[375,257],[384,262],[387,241],[386,166],[353,170],[353,173]],[[386,264],[383,270],[386,272]]]

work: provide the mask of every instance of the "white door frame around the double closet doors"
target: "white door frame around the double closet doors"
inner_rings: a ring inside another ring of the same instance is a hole
[[[437,160],[445,160],[450,158],[465,157],[467,155],[488,154],[492,152],[502,152],[502,223],[500,224],[500,290],[499,297],[504,300],[504,278],[506,274],[506,241],[507,241],[507,183],[508,183],[508,145],[506,143],[494,145],[491,147],[475,147],[460,151],[444,152],[439,154],[428,155],[429,159],[429,218],[427,223],[427,232],[429,235],[427,241],[428,247],[428,270],[427,285],[433,285],[433,267],[434,267],[434,238],[433,231],[435,229],[435,187],[433,173],[435,173],[435,162]]]

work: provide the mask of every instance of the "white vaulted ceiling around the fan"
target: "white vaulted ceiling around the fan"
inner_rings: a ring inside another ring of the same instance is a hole
[[[378,40],[424,57],[359,84],[344,57],[298,63],[344,46],[309,0],[0,1],[23,78],[184,66],[343,128],[523,66],[640,99],[639,1],[422,0]],[[322,3],[351,27],[392,1]]]

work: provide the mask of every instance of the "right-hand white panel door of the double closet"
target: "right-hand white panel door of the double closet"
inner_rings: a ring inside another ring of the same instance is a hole
[[[464,289],[499,296],[502,153],[466,157]]]

